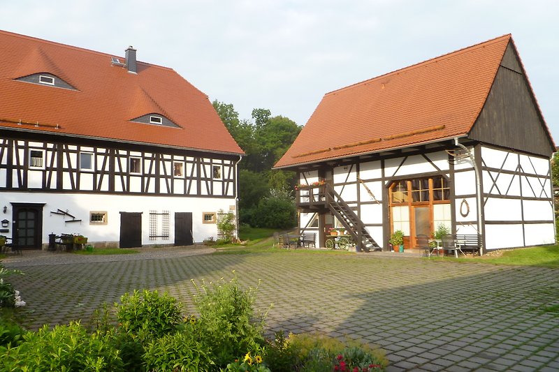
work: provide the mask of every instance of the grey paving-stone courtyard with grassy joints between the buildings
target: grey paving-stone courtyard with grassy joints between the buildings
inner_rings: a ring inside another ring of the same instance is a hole
[[[24,252],[3,261],[27,302],[27,326],[86,321],[104,302],[147,288],[194,311],[191,283],[257,286],[268,332],[326,332],[379,345],[388,371],[558,371],[559,270],[440,262],[398,253],[224,254],[142,249],[136,255]],[[270,308],[270,304],[273,306]],[[554,310],[554,311],[553,311]]]

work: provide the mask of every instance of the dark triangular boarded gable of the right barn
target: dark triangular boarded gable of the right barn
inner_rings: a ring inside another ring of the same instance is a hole
[[[555,151],[511,42],[504,52],[484,108],[468,137],[547,157]]]

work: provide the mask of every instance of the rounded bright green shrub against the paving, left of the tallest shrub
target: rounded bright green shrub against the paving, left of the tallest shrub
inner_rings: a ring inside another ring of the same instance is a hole
[[[115,304],[119,326],[140,342],[174,331],[181,320],[181,304],[167,292],[159,295],[157,290],[135,290],[132,295],[125,293],[120,302]]]

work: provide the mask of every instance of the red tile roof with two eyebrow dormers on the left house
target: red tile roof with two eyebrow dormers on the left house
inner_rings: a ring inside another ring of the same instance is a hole
[[[0,128],[242,154],[208,96],[175,70],[138,62],[133,74],[111,57],[0,31]],[[36,73],[77,90],[15,80]],[[131,121],[152,113],[180,128]],[[20,120],[39,126],[12,122]]]

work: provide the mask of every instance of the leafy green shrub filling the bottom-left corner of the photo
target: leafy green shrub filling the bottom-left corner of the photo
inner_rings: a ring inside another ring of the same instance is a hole
[[[109,336],[88,334],[79,322],[23,336],[19,346],[3,350],[2,371],[122,371],[119,352]]]

